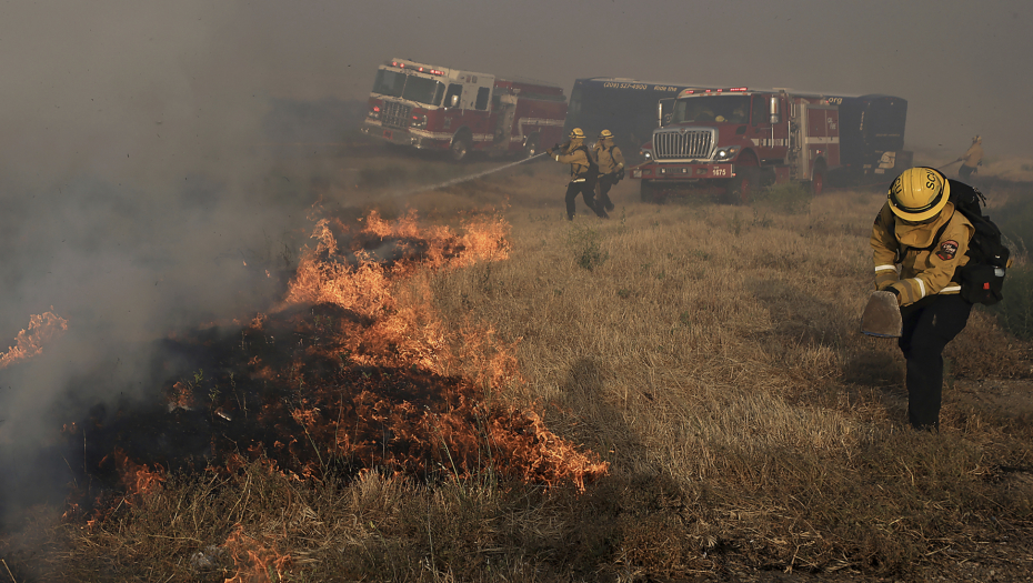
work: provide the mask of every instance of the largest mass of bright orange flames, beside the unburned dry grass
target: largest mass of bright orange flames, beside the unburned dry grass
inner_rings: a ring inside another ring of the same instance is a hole
[[[260,413],[274,425],[282,426],[290,419],[304,432],[288,443],[278,441],[275,452],[269,453],[300,459],[301,450],[312,445],[320,463],[323,458],[361,460],[415,474],[443,469],[458,476],[469,476],[490,463],[500,473],[549,484],[571,481],[582,490],[585,480],[606,473],[605,462],[551,433],[534,412],[485,405],[481,388],[505,389],[520,381],[515,343],[498,340],[491,328],[469,323],[450,331],[428,299],[432,296],[429,287],[413,285],[411,275],[421,268],[449,270],[508,258],[504,222],[471,222],[458,235],[444,227],[421,232],[412,212],[393,223],[370,213],[360,232],[368,239],[360,243],[377,245],[392,239],[420,245],[419,253],[403,251],[392,262],[353,250],[350,263],[332,228],[341,225],[329,220],[315,225],[312,237],[318,244],[302,254],[278,311],[329,304],[357,318],[298,322],[294,333],[320,340],[307,349],[305,356],[295,358],[289,371],[278,372],[272,364],[251,359],[252,378],[305,386],[300,404],[269,403]],[[403,281],[410,283],[404,293]],[[268,324],[273,322],[257,319],[252,329]],[[313,355],[397,372],[373,370],[360,376],[342,371],[335,383],[327,385],[318,376],[307,376],[304,360]],[[460,371],[472,372],[472,378],[457,378]],[[342,391],[342,384],[349,390]],[[420,386],[424,389],[415,389]],[[489,462],[484,452],[498,455]],[[298,471],[311,474],[311,462]]]

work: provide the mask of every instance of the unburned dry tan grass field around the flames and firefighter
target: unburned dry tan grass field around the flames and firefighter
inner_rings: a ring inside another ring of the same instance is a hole
[[[390,291],[441,338],[489,330],[477,358],[442,343],[457,355],[441,371],[535,412],[605,474],[583,491],[528,482],[488,451],[477,471],[442,462],[430,478],[261,461],[168,475],[102,517],[30,509],[0,535],[0,581],[1030,580],[1029,285],[1011,288],[1017,312],[973,312],[947,346],[942,429],[916,433],[899,350],[859,333],[882,191],[655,205],[626,180],[610,220],[579,201],[568,222],[565,170],[545,161],[418,192],[492,165],[327,160],[308,183],[342,224],[374,209],[457,232],[502,218],[504,258]],[[1031,197],[987,193],[999,209]],[[502,353],[515,370],[488,379]]]

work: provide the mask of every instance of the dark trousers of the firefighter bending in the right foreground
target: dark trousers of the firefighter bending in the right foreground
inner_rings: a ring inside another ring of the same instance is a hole
[[[933,295],[901,308],[900,348],[907,360],[907,421],[915,429],[940,428],[943,349],[969,322],[972,304],[957,294]]]

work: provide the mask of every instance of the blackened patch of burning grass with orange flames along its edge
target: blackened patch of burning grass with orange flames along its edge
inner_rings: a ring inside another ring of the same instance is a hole
[[[67,428],[70,466],[87,475],[66,517],[103,530],[160,504],[173,476],[232,481],[252,464],[304,484],[374,471],[583,491],[608,464],[530,406],[490,399],[522,382],[512,344],[473,323],[445,325],[418,277],[503,260],[504,234],[498,219],[461,234],[424,230],[412,213],[373,212],[354,231],[319,222],[282,304],[247,324],[166,340],[156,366],[189,363],[192,373],[159,399],[101,405]],[[292,564],[268,536],[239,521],[224,526],[223,542],[195,551],[195,570],[233,565],[227,581],[267,581]]]

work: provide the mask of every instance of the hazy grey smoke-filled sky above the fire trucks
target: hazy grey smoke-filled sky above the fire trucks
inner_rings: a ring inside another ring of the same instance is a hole
[[[987,155],[1025,157],[1031,28],[1024,0],[9,1],[0,153],[154,173],[241,138],[270,97],[363,99],[401,57],[568,92],[628,77],[894,94],[910,148],[963,151],[981,133]]]

